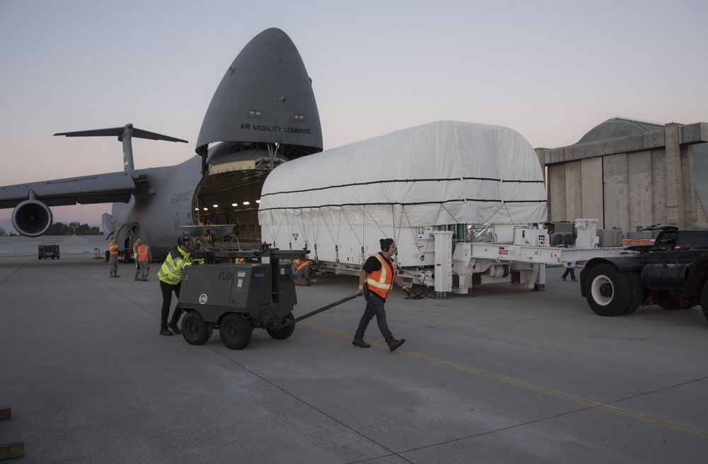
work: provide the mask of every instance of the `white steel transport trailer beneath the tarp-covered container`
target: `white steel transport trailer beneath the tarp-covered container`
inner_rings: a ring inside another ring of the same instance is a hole
[[[436,297],[445,298],[450,293],[469,294],[476,285],[487,283],[543,290],[546,266],[581,268],[590,259],[636,254],[621,246],[621,231],[598,230],[597,225],[596,219],[577,219],[518,227],[486,225],[473,229],[459,225],[456,230],[401,227],[389,237],[396,240],[394,264],[401,279],[433,288]],[[319,237],[333,236],[322,232]],[[338,248],[336,256],[314,244],[314,253],[308,259],[320,271],[358,276],[367,256],[379,247],[373,243],[360,247],[351,232],[340,232],[339,240],[346,245]],[[608,234],[615,235],[614,239],[607,239]],[[382,237],[380,231],[362,235],[377,237],[376,242]]]

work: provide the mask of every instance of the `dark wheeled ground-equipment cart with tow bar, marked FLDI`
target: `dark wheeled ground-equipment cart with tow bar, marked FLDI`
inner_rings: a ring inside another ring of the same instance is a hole
[[[274,339],[287,339],[296,322],[357,297],[349,295],[295,319],[295,281],[290,261],[282,261],[302,259],[307,251],[195,252],[195,257],[207,262],[185,268],[177,305],[185,312],[185,341],[204,344],[214,329],[219,330],[223,344],[234,350],[249,345],[253,329],[265,329]]]

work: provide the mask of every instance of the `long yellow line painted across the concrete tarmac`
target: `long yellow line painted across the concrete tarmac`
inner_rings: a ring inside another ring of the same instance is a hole
[[[310,324],[309,322],[298,322],[297,324],[302,327],[307,327],[307,329],[317,330],[319,332],[324,332],[326,334],[340,336],[344,339],[350,339],[352,337],[351,334],[345,334],[345,333],[339,332],[337,330],[326,329],[325,327],[319,327],[314,324]],[[382,344],[382,343],[377,343],[375,341],[368,341],[367,343],[371,344],[371,346],[378,346],[379,348],[388,349],[388,346],[386,346],[385,344]],[[438,364],[438,366],[445,366],[447,368],[461,370],[462,372],[468,372],[468,373],[471,373],[474,375],[479,375],[480,377],[485,377],[485,378],[489,378],[491,380],[496,380],[497,382],[508,383],[509,385],[515,385],[517,387],[526,388],[527,390],[533,390],[535,392],[544,393],[546,395],[551,395],[554,397],[563,398],[564,400],[569,400],[569,401],[577,402],[580,404],[586,404],[587,406],[590,406],[590,407],[598,407],[600,409],[605,409],[605,411],[615,412],[617,414],[623,414],[625,416],[634,417],[635,419],[641,419],[643,421],[652,422],[653,424],[659,424],[659,425],[663,425],[663,426],[672,427],[673,429],[679,429],[679,430],[691,432],[692,434],[708,436],[708,431],[702,430],[702,429],[697,429],[696,427],[677,424],[675,422],[659,419],[658,417],[653,417],[653,416],[649,416],[646,414],[641,414],[639,412],[629,411],[629,409],[622,409],[621,407],[610,406],[610,404],[598,403],[593,400],[587,400],[586,398],[568,395],[567,393],[559,392],[556,390],[551,390],[550,388],[539,387],[538,385],[532,385],[531,383],[520,382],[519,380],[514,380],[512,378],[504,377],[503,375],[496,375],[493,373],[486,372],[484,370],[469,368],[467,366],[461,366],[459,364],[450,363],[450,361],[443,361],[442,359],[433,358],[432,356],[426,356],[424,354],[414,353],[413,351],[408,351],[408,350],[401,349],[401,348],[397,349],[396,353],[405,354],[406,356],[418,358],[418,359],[421,359],[422,361],[428,361],[429,363],[435,363],[435,364]]]

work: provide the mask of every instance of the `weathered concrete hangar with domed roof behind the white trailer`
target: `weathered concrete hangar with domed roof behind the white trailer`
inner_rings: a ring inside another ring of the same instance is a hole
[[[548,219],[600,220],[624,237],[653,224],[708,227],[708,123],[614,118],[574,145],[535,149],[546,173]],[[628,233],[629,232],[629,233]]]

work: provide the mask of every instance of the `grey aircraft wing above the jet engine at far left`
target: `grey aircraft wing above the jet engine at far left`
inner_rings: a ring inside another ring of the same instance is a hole
[[[15,208],[25,200],[38,200],[47,206],[92,203],[127,203],[137,188],[127,172],[70,177],[0,187],[0,208]]]

